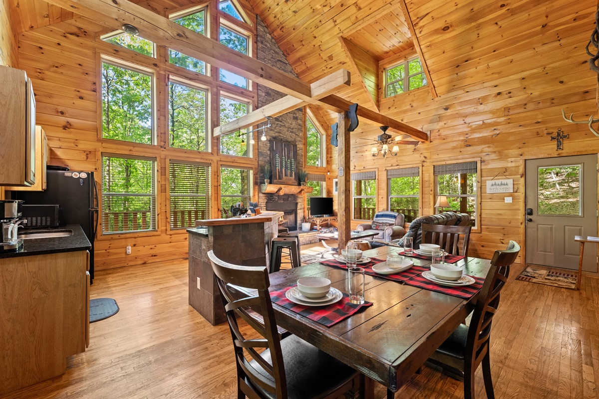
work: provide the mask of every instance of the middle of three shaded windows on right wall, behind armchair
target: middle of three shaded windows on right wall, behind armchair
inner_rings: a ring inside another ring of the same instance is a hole
[[[420,173],[418,167],[387,170],[389,210],[406,215],[411,222],[419,216]]]

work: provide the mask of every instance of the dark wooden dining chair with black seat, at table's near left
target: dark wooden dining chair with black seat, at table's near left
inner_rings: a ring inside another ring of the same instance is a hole
[[[363,374],[297,336],[283,339],[279,336],[268,293],[267,267],[226,263],[213,251],[208,251],[208,258],[235,349],[237,399],[328,399],[358,392],[364,397]],[[255,294],[240,298],[231,285],[255,290]],[[262,320],[249,315],[249,308],[262,315]],[[241,333],[237,318],[252,327],[252,331]]]

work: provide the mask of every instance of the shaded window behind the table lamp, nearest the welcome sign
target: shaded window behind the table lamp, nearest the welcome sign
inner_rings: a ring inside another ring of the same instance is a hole
[[[471,226],[476,226],[477,165],[476,162],[450,163],[433,166],[437,195],[447,196],[450,209],[470,215]]]

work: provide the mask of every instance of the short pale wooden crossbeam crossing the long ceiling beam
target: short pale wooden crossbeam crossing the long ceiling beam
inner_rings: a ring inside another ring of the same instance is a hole
[[[310,84],[310,92],[312,95],[311,98],[314,100],[323,98],[337,92],[343,87],[349,87],[349,85],[349,71],[347,71],[347,69],[340,69]],[[244,127],[253,126],[266,121],[266,117],[276,117],[285,114],[292,109],[304,106],[305,104],[307,104],[307,102],[295,98],[294,96],[285,96],[282,99],[273,101],[260,109],[250,112],[249,114],[243,115],[242,117],[215,127],[213,130],[213,135],[220,136],[228,132],[235,132],[235,130],[238,129],[244,129]]]

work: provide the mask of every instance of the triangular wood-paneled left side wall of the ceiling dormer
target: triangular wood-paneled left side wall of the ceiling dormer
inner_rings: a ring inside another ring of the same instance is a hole
[[[379,60],[368,54],[351,41],[339,36],[341,47],[345,50],[349,62],[359,75],[362,89],[368,93],[370,105],[379,111]],[[370,68],[370,72],[368,69]]]

